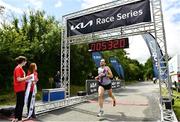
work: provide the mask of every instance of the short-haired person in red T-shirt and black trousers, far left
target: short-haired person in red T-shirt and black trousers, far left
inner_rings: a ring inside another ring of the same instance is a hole
[[[16,93],[15,119],[13,122],[22,120],[22,112],[24,107],[25,81],[31,79],[31,76],[25,77],[23,66],[26,65],[27,58],[19,56],[16,59],[17,66],[14,69],[14,92]]]

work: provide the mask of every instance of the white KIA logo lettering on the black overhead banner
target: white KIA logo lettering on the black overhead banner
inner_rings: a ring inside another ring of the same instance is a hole
[[[79,30],[86,28],[87,26],[91,27],[93,25],[93,20],[90,20],[88,23],[84,24],[83,22],[77,24],[76,26],[72,25],[71,30]]]

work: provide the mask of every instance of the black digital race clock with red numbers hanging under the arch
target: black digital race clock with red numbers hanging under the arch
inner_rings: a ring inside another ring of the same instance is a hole
[[[89,44],[89,48],[91,51],[105,51],[105,50],[121,49],[121,48],[128,48],[128,47],[129,47],[128,38],[102,41],[102,42]]]

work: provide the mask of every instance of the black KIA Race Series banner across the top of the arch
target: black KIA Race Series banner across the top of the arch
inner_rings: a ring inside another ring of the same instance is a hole
[[[141,0],[67,20],[67,36],[150,22],[150,2]]]

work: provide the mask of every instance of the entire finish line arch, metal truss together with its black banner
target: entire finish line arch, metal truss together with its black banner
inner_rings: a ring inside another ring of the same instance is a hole
[[[166,109],[164,106],[164,103],[171,102],[172,98],[161,0],[113,1],[65,15],[63,26],[61,82],[66,89],[67,97],[70,96],[70,45],[153,33],[159,45],[158,47],[156,44],[156,52],[160,48],[163,54],[162,57],[157,56],[161,120],[174,120],[172,107]],[[163,77],[165,73],[166,78]],[[167,94],[163,94],[162,88]]]

